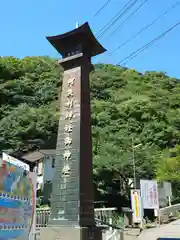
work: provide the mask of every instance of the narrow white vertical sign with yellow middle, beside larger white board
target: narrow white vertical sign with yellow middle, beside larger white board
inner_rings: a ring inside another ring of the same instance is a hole
[[[142,205],[140,190],[131,190],[131,207],[133,210],[133,223],[141,223]]]

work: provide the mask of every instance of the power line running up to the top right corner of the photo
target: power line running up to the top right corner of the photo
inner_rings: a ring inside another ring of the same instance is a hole
[[[174,8],[176,8],[178,5],[180,5],[180,1],[177,1],[175,4],[173,4],[171,6],[170,9],[168,9],[167,11],[165,11],[161,16],[157,17],[155,20],[153,20],[151,23],[147,24],[145,27],[141,28],[140,31],[138,31],[137,33],[135,33],[132,37],[130,37],[129,39],[127,39],[126,41],[124,41],[124,43],[120,44],[119,46],[117,46],[114,50],[112,50],[108,55],[111,56],[114,52],[116,52],[117,50],[121,49],[122,47],[124,47],[127,43],[131,42],[133,39],[135,39],[136,37],[138,37],[142,32],[144,32],[145,30],[147,30],[149,27],[153,26],[157,21],[159,21],[162,17],[166,16],[168,13],[170,13]]]

